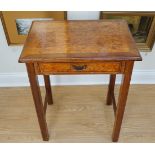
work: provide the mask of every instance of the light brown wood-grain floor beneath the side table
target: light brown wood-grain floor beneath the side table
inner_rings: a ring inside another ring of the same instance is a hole
[[[107,89],[52,87],[49,142],[111,142],[114,114],[106,105]],[[155,85],[131,85],[119,142],[155,142],[154,92]],[[43,142],[29,87],[0,88],[0,142]]]

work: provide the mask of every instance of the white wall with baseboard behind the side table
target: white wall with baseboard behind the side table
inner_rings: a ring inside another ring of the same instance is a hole
[[[69,11],[69,20],[99,19],[98,11]],[[8,46],[0,21],[0,86],[28,85],[26,68],[18,63],[22,46]],[[152,52],[141,52],[142,62],[136,62],[132,83],[155,83],[155,46]],[[42,83],[42,79],[41,83]],[[54,85],[68,84],[102,84],[107,83],[104,75],[52,76]],[[119,81],[119,79],[118,79]]]

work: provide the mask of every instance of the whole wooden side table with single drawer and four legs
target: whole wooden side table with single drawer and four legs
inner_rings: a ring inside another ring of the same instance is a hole
[[[47,103],[53,103],[49,75],[110,74],[106,104],[113,103],[112,141],[118,141],[132,69],[137,60],[142,59],[124,20],[33,22],[19,62],[27,66],[43,140],[49,140],[45,114]],[[117,106],[116,74],[123,75]],[[37,75],[44,76],[44,105]]]

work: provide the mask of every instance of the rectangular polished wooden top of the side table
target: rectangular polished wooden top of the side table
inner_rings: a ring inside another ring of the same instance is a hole
[[[141,60],[124,20],[35,21],[19,62]]]

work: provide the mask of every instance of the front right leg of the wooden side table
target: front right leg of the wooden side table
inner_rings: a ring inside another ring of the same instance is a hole
[[[118,104],[117,104],[117,110],[116,110],[116,116],[115,116],[115,122],[114,122],[113,134],[112,134],[113,142],[117,142],[119,138],[119,133],[121,129],[125,105],[126,105],[127,96],[128,96],[128,90],[130,86],[133,64],[134,64],[133,61],[126,62],[125,73],[123,74],[123,77],[122,77],[122,83],[121,83],[119,97],[118,97]]]

